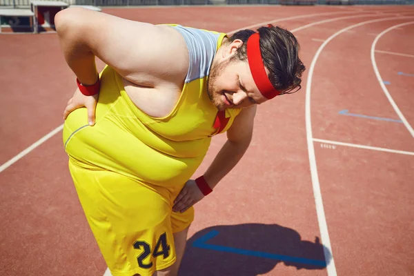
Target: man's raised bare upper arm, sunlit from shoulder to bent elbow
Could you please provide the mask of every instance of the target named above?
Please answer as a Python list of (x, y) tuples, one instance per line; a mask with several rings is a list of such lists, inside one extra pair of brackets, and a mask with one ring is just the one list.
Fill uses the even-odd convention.
[(131, 21), (83, 8), (63, 10), (55, 22), (59, 36), (72, 36), (79, 45), (84, 43), (128, 81), (175, 81), (177, 77), (184, 79), (188, 71), (186, 43), (171, 26)]

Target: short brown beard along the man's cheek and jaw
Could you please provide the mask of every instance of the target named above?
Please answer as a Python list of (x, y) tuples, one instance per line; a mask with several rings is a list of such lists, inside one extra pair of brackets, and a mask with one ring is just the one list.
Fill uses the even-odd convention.
[(210, 68), (210, 75), (208, 75), (207, 80), (207, 95), (210, 99), (211, 103), (218, 109), (218, 110), (224, 110), (226, 109), (226, 103), (224, 103), (221, 95), (221, 90), (217, 87), (217, 78), (219, 75), (221, 75), (221, 72), (224, 71), (224, 68), (228, 66), (228, 63), (230, 63), (230, 60), (226, 61), (215, 61), (211, 65)]

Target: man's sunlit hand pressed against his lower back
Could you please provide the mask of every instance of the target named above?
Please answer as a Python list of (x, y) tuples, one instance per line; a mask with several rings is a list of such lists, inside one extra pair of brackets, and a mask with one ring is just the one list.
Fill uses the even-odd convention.
[(72, 99), (68, 101), (65, 112), (63, 112), (63, 119), (66, 120), (69, 113), (77, 108), (86, 107), (88, 109), (88, 122), (90, 126), (95, 125), (95, 109), (97, 107), (99, 94), (93, 96), (85, 96), (81, 93), (79, 88), (75, 90)]

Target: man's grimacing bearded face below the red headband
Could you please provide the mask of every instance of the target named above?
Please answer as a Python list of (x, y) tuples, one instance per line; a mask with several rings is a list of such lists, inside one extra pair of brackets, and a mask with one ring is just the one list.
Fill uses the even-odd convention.
[[(231, 53), (232, 44), (224, 51)], [(237, 47), (233, 48), (233, 53), (234, 49)], [(207, 93), (218, 110), (247, 108), (267, 101), (257, 89), (247, 61), (232, 59), (226, 52), (224, 58), (219, 57), (213, 61), (207, 82)]]

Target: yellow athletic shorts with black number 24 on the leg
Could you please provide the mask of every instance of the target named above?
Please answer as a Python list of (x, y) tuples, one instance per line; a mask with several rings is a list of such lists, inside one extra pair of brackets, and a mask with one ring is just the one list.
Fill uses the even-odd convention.
[(194, 209), (171, 211), (154, 190), (117, 172), (88, 170), (69, 161), (79, 200), (114, 276), (149, 276), (174, 264), (172, 233), (184, 230)]

